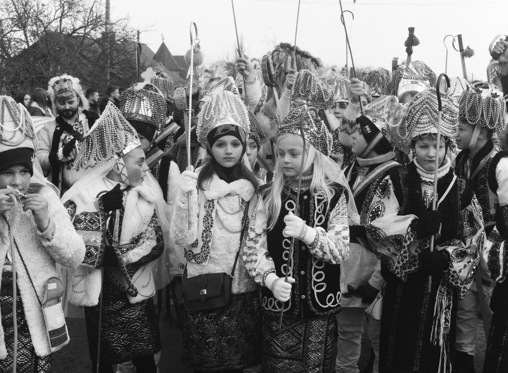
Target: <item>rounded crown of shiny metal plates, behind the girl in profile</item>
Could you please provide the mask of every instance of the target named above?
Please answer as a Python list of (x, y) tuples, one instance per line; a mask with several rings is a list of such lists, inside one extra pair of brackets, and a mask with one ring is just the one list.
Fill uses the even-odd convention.
[(120, 110), (127, 120), (139, 120), (161, 130), (166, 124), (167, 105), (161, 91), (150, 83), (138, 83), (120, 96)]

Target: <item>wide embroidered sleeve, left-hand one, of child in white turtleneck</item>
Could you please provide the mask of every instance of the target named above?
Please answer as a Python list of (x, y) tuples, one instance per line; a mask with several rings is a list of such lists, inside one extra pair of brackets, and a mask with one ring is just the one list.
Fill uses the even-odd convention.
[(367, 230), (368, 248), (390, 272), (405, 281), (409, 273), (418, 269), (421, 247), (411, 229), (416, 215), (400, 216), (399, 208), (392, 181), (387, 176), (375, 188), (366, 213), (362, 211), (361, 220)]

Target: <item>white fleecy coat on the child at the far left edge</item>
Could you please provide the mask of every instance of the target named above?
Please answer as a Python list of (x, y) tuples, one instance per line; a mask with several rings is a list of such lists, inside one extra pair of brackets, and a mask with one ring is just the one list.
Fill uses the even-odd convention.
[[(85, 256), (85, 244), (74, 230), (69, 214), (63, 208), (55, 192), (48, 187), (44, 187), (39, 194), (48, 199), (50, 217), (48, 229), (41, 232), (34, 222), (31, 211), (22, 211), (21, 204), (19, 204), (17, 222), (14, 227), (14, 240), (16, 240), (39, 298), (42, 300), (47, 280), (50, 277), (59, 277), (55, 262), (68, 267), (78, 266)], [(6, 218), (7, 221), (10, 221), (11, 212), (6, 213)], [(0, 218), (0, 230), (0, 258), (3, 265), (7, 250), (10, 250), (9, 228), (3, 218)], [(26, 323), (28, 324), (35, 352), (38, 356), (49, 355), (51, 350), (42, 309), (17, 253), (16, 273)], [(61, 345), (60, 348), (67, 343), (69, 341)], [(4, 329), (0, 325), (0, 359), (6, 357)]]

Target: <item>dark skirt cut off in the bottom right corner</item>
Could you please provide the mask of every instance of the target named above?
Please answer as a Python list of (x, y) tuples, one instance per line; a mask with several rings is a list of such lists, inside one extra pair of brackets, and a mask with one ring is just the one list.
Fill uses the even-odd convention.
[[(505, 280), (506, 281), (506, 280)], [(485, 351), (485, 373), (501, 373), (508, 370), (508, 313), (494, 312), (489, 340)]]

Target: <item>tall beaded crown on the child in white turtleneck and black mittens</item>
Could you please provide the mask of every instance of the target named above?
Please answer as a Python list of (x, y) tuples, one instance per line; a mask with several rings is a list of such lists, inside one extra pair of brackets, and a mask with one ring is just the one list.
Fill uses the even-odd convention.
[[(441, 134), (454, 140), (459, 129), (457, 117), (459, 108), (455, 101), (441, 94)], [(426, 133), (437, 133), (437, 95), (434, 88), (418, 93), (407, 106), (406, 139), (410, 143)]]

